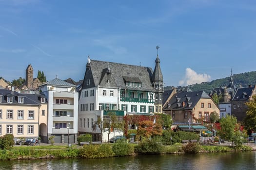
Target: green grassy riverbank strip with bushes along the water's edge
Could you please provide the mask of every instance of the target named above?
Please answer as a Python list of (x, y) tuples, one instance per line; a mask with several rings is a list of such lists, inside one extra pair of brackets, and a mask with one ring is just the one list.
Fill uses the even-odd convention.
[(173, 153), (209, 153), (252, 151), (249, 146), (202, 146), (198, 143), (187, 145), (161, 145), (155, 142), (139, 144), (114, 143), (101, 145), (68, 146), (19, 146), (10, 150), (0, 150), (0, 160), (41, 159), (41, 158), (103, 158), (113, 156), (128, 156), (135, 154), (173, 154)]

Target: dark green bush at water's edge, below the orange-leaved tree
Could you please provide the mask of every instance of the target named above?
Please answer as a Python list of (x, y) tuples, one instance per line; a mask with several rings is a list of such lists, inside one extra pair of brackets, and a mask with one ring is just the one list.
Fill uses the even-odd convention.
[(158, 154), (163, 151), (163, 147), (157, 140), (148, 140), (139, 143), (134, 151), (138, 154)]

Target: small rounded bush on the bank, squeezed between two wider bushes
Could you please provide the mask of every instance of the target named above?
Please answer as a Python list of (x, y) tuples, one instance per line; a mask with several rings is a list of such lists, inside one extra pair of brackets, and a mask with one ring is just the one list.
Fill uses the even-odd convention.
[(112, 146), (112, 150), (115, 156), (128, 156), (134, 153), (134, 149), (131, 144), (126, 142), (117, 142)]

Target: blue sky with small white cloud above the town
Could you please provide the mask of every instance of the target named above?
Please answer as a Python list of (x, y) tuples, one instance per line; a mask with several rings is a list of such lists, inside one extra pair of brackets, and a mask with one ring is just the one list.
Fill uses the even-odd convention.
[(255, 0), (0, 0), (0, 76), (83, 79), (93, 60), (160, 66), (167, 85), (256, 71)]

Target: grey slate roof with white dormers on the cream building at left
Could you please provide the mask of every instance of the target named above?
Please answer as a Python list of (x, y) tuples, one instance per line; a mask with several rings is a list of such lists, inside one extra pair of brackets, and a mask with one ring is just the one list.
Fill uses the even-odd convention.
[[(45, 97), (43, 94), (27, 94), (18, 93), (16, 91), (0, 89), (0, 96), (2, 97), (2, 102), (0, 104), (20, 104), (20, 105), (39, 105), (41, 103), (40, 97)], [(7, 96), (14, 97), (13, 103), (7, 103)], [(18, 97), (24, 97), (23, 103), (18, 103)]]

